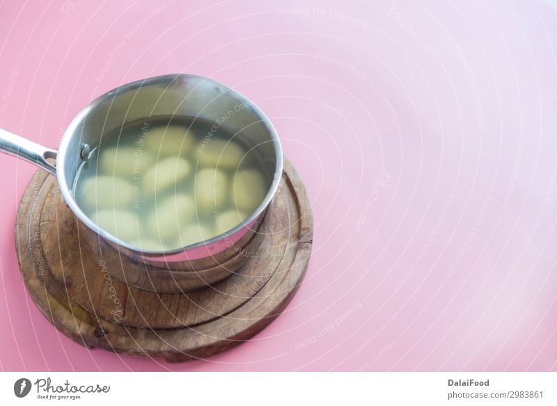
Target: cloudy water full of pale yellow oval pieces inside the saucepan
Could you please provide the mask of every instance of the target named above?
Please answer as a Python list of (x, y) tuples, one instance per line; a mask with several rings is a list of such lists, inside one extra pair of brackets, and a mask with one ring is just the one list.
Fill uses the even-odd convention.
[(147, 253), (178, 251), (242, 224), (270, 182), (252, 150), (213, 127), (159, 120), (107, 134), (79, 169), (79, 208), (103, 231)]

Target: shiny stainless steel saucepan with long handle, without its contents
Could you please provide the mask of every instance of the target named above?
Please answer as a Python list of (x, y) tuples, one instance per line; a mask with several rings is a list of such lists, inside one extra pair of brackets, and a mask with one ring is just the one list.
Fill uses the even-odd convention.
[[(228, 114), (226, 114), (228, 113)], [(262, 157), (262, 171), (272, 177), (272, 183), (265, 199), (249, 217), (240, 224), (217, 237), (204, 242), (191, 244), (173, 251), (146, 251), (133, 247), (117, 237), (99, 228), (76, 203), (74, 190), (77, 174), (81, 164), (88, 159), (91, 150), (113, 130), (127, 123), (160, 116), (184, 116), (217, 122), (226, 114), (226, 125), (233, 134), (240, 134), (242, 141), (249, 148), (254, 148)], [(164, 287), (140, 277), (138, 272), (149, 272), (143, 265), (143, 271), (114, 270), (114, 276), (125, 279), (127, 283), (140, 288), (162, 291), (191, 290), (214, 283), (228, 276), (234, 270), (219, 270), (219, 265), (226, 263), (226, 258), (237, 252), (237, 244), (243, 244), (256, 233), (256, 227), (267, 206), (271, 202), (283, 171), (283, 154), (281, 143), (269, 118), (247, 97), (212, 79), (196, 75), (164, 75), (134, 81), (105, 93), (88, 104), (72, 120), (65, 130), (60, 148), (52, 150), (0, 129), (0, 150), (36, 164), (41, 169), (56, 176), (63, 201), (74, 212), (79, 221), (91, 233), (89, 242), (107, 245), (118, 254), (129, 256), (135, 263), (157, 267), (153, 276), (166, 280)], [(56, 165), (47, 159), (55, 158)], [(100, 237), (100, 238), (99, 238)], [(100, 247), (102, 248), (102, 247)], [(196, 261), (199, 264), (196, 269)], [(171, 274), (164, 274), (164, 266)], [(193, 265), (192, 265), (193, 264)], [(130, 267), (133, 268), (133, 267)], [(186, 274), (187, 283), (180, 283), (172, 271), (185, 270), (198, 274), (205, 272), (201, 279)], [(130, 274), (127, 274), (130, 273)], [(162, 272), (162, 275), (161, 275)], [(183, 274), (184, 272), (180, 272)], [(203, 272), (201, 272), (203, 273)], [(143, 282), (137, 282), (139, 279)], [(173, 282), (168, 283), (168, 279)], [(196, 279), (199, 279), (196, 281)], [(148, 281), (148, 282), (145, 282)], [(193, 281), (193, 282), (192, 282)]]

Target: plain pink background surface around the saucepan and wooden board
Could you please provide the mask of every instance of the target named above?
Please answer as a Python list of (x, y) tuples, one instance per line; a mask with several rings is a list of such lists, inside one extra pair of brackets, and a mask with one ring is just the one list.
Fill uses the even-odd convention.
[(1, 2), (0, 127), (56, 146), (115, 86), (212, 77), (272, 119), (315, 215), (306, 279), (252, 341), (189, 364), (122, 357), (73, 343), (26, 294), (13, 228), (35, 168), (1, 156), (1, 369), (556, 370), (556, 13)]

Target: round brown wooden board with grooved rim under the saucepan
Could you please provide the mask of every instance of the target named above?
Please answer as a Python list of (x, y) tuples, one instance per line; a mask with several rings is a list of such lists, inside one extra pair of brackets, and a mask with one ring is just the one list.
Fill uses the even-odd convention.
[(102, 257), (80, 241), (77, 218), (63, 203), (56, 179), (37, 171), (19, 203), (15, 243), (33, 301), (63, 334), (88, 348), (188, 361), (253, 337), (299, 287), (313, 217), (289, 162), (258, 233), (262, 242), (244, 253), (246, 264), (213, 286), (182, 293), (134, 288), (107, 277)]

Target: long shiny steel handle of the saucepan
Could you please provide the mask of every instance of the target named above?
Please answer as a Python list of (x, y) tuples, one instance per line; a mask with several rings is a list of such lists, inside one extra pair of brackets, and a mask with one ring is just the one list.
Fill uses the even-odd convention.
[(36, 164), (51, 175), (56, 176), (56, 167), (47, 158), (56, 158), (56, 150), (51, 150), (22, 136), (0, 128), (0, 152), (25, 159)]

